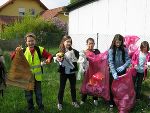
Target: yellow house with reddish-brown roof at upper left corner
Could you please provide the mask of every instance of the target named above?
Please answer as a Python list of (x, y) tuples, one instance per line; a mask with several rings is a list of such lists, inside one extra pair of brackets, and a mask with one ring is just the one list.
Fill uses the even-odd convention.
[(37, 15), (48, 10), (40, 0), (9, 0), (0, 6), (0, 31), (25, 14)]

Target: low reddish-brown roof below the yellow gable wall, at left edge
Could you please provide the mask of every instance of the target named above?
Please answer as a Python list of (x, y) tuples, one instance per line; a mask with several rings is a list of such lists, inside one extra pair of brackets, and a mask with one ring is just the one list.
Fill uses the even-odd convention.
[(22, 17), (19, 16), (2, 16), (0, 15), (0, 24), (10, 24), (16, 20), (21, 20)]

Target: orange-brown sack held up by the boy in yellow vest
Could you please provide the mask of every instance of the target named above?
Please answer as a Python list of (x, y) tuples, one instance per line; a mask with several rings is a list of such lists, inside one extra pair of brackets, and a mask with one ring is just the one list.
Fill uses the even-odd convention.
[(32, 75), (30, 65), (22, 49), (16, 51), (6, 78), (6, 84), (17, 86), (25, 90), (34, 89), (34, 76)]

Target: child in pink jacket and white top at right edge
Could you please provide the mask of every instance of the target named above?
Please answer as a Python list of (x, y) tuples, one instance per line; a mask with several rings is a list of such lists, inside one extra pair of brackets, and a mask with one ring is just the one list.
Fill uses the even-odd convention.
[(140, 99), (143, 78), (147, 76), (147, 62), (150, 62), (149, 44), (143, 41), (140, 45), (140, 51), (134, 53), (132, 57), (132, 66), (136, 69), (136, 76), (133, 76), (135, 85), (136, 99)]

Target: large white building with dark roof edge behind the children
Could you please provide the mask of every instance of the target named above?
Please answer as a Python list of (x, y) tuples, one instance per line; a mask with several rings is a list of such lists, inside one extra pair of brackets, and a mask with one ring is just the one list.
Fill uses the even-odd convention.
[(100, 51), (109, 49), (115, 34), (137, 35), (150, 42), (149, 0), (79, 0), (66, 8), (73, 47), (85, 49), (92, 37)]

